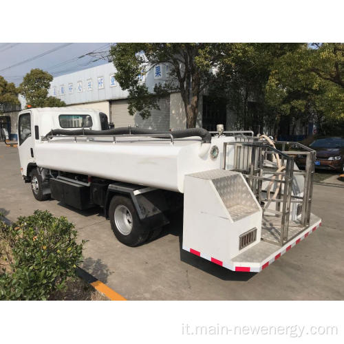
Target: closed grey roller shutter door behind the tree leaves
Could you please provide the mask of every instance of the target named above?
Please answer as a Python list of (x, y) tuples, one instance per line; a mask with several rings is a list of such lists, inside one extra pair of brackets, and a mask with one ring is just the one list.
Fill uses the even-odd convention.
[(151, 110), (151, 116), (143, 120), (140, 114), (129, 115), (127, 100), (111, 101), (111, 122), (114, 122), (115, 128), (132, 127), (138, 125), (139, 128), (151, 128), (158, 130), (170, 129), (170, 97), (159, 100), (160, 110)]

